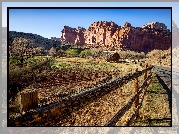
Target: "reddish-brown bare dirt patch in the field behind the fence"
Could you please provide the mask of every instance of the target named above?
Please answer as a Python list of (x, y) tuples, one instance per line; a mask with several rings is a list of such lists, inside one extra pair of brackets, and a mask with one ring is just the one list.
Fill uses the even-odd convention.
[(106, 83), (113, 73), (107, 72), (73, 72), (56, 71), (47, 74), (46, 80), (38, 83), (40, 103), (59, 101), (64, 97), (96, 87)]

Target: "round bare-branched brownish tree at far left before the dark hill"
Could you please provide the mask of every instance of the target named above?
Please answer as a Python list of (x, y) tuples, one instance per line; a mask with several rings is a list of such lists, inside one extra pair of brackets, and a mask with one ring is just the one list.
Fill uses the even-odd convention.
[(37, 54), (35, 43), (30, 39), (16, 37), (9, 46), (9, 54), (23, 64), (25, 60)]

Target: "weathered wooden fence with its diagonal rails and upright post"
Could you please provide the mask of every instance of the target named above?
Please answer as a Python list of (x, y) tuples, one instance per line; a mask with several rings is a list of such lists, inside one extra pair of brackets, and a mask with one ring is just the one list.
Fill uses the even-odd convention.
[[(131, 98), (131, 100), (121, 109), (119, 112), (108, 122), (106, 123), (105, 126), (115, 126), (116, 122), (125, 114), (125, 112), (132, 106), (133, 103), (135, 103), (136, 111), (135, 113), (131, 116), (130, 120), (126, 124), (129, 126), (136, 115), (138, 114), (139, 108), (142, 105), (142, 100), (139, 102), (139, 95), (143, 92), (143, 97), (145, 95), (147, 86), (149, 85), (151, 81), (151, 69), (153, 66), (147, 67), (142, 70), (138, 71), (136, 70), (135, 73), (133, 74), (128, 74), (122, 78), (118, 78), (114, 81), (108, 82), (104, 85), (101, 85), (99, 87), (92, 88), (88, 91), (84, 91), (82, 93), (79, 93), (75, 96), (72, 96), (68, 99), (63, 99), (60, 102), (49, 104), (47, 106), (43, 106), (41, 108), (37, 108), (35, 112), (31, 113), (26, 113), (25, 115), (11, 120), (10, 125), (11, 126), (16, 126), (15, 122), (19, 121), (21, 122), (20, 124), (23, 126), (26, 126), (27, 124), (25, 122), (28, 122), (29, 120), (33, 121), (34, 118), (45, 118), (49, 119), (51, 115), (53, 116), (58, 116), (59, 120), (63, 120), (66, 118), (68, 115), (70, 115), (73, 111), (78, 110), (80, 108), (83, 108), (84, 106), (88, 105), (90, 102), (95, 101), (99, 97), (102, 97), (105, 94), (108, 94), (111, 91), (116, 90), (118, 87), (123, 86), (124, 84), (127, 84), (129, 81), (134, 80), (134, 93), (135, 95)], [(147, 74), (149, 73), (149, 76), (147, 77)], [(144, 83), (142, 84), (141, 87), (138, 88), (138, 77), (144, 74)], [(150, 80), (150, 81), (149, 81)], [(148, 82), (149, 81), (149, 82)], [(35, 97), (36, 98), (36, 97)], [(34, 98), (34, 99), (35, 99)], [(31, 98), (31, 101), (33, 101), (33, 98)], [(36, 102), (36, 101), (33, 101)], [(49, 114), (50, 113), (50, 114)], [(28, 118), (27, 118), (28, 116)]]

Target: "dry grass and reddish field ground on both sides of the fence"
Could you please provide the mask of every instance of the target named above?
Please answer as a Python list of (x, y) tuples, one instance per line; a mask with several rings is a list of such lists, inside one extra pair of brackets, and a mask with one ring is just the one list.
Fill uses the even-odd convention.
[[(34, 83), (30, 81), (32, 76), (27, 72), (31, 71), (31, 68), (39, 65), (46, 57), (35, 57), (29, 59), (23, 67), (19, 67), (15, 64), (10, 64), (10, 78), (17, 77), (28, 80), (28, 87), (33, 88)], [(49, 104), (51, 102), (60, 101), (62, 98), (73, 96), (82, 91), (89, 90), (93, 87), (102, 85), (106, 82), (112, 81), (116, 78), (125, 76), (129, 73), (133, 73), (136, 68), (142, 70), (142, 67), (138, 64), (123, 64), (123, 63), (108, 63), (104, 60), (94, 60), (90, 58), (52, 58), (48, 64), (40, 71), (36, 72), (36, 87), (38, 89), (39, 106)], [(23, 77), (22, 77), (23, 76)], [(12, 79), (12, 81), (15, 79)], [(22, 80), (22, 82), (25, 82)], [(139, 77), (139, 85), (143, 82), (143, 76)], [(153, 80), (152, 87), (148, 88), (146, 98), (144, 101), (144, 107), (140, 110), (139, 123), (135, 122), (135, 126), (141, 125), (143, 118), (152, 118), (159, 114), (164, 117), (162, 112), (163, 105), (167, 105), (167, 101), (160, 95), (161, 87), (157, 84), (157, 81)], [(156, 95), (157, 94), (157, 95)], [(159, 94), (159, 95), (158, 95)], [(62, 122), (54, 121), (56, 126), (103, 126), (115, 113), (124, 106), (133, 95), (133, 81), (120, 87), (119, 89), (112, 91), (111, 93), (99, 98), (99, 100), (89, 104), (86, 108), (80, 109), (72, 113), (71, 117), (68, 117)], [(148, 100), (153, 98), (153, 101), (148, 103)], [(18, 94), (10, 100), (11, 113), (10, 116), (14, 116), (19, 113), (19, 101)], [(157, 101), (156, 101), (157, 100)], [(155, 103), (157, 104), (155, 105)], [(165, 103), (164, 103), (165, 102)], [(159, 107), (160, 104), (160, 107)], [(161, 105), (162, 104), (162, 105)], [(148, 110), (150, 106), (158, 108), (157, 111)], [(167, 107), (166, 107), (167, 108)], [(167, 109), (166, 109), (167, 110)], [(121, 122), (125, 122), (132, 109), (126, 113), (126, 118), (121, 119)], [(146, 116), (147, 115), (147, 116)], [(151, 116), (150, 116), (151, 115)], [(145, 124), (144, 125), (151, 125)], [(120, 122), (117, 125), (122, 125)], [(152, 124), (153, 125), (153, 124)]]

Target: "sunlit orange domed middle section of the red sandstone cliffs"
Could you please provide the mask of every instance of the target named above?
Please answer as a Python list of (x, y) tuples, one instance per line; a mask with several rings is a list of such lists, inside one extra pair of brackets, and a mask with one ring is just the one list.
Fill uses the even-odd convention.
[[(119, 26), (114, 22), (94, 22), (85, 31), (84, 38), (86, 46), (92, 47), (108, 47), (114, 45), (118, 40)], [(110, 46), (112, 47), (112, 46)]]

